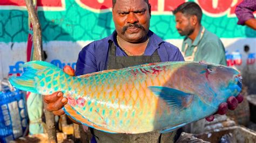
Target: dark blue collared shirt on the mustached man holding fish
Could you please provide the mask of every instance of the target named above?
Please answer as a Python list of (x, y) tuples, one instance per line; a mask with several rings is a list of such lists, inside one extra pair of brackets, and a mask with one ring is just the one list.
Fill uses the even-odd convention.
[[(116, 48), (116, 56), (127, 56), (118, 46), (116, 41), (116, 31), (109, 37), (102, 40), (93, 41), (80, 51), (76, 64), (76, 75), (89, 74), (105, 70), (108, 60), (109, 42), (113, 41)], [(149, 43), (145, 49), (144, 55), (152, 55), (157, 50), (161, 62), (165, 61), (184, 61), (179, 49), (163, 41), (160, 37), (149, 31)]]

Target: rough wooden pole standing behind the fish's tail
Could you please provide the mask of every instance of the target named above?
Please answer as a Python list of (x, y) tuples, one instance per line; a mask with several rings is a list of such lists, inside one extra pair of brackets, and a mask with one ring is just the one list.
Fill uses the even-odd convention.
[[(34, 46), (34, 53), (35, 57), (33, 59), (35, 60), (44, 60), (43, 57), (43, 44), (42, 44), (42, 31), (41, 31), (41, 25), (39, 23), (39, 18), (37, 15), (37, 11), (35, 9), (35, 5), (33, 5), (32, 0), (25, 0), (26, 2), (26, 8), (28, 9), (29, 18), (32, 23), (33, 27), (33, 46)], [(44, 107), (45, 107), (44, 103)], [(48, 133), (48, 142), (50, 143), (57, 143), (57, 134), (56, 134), (56, 128), (55, 128), (55, 120), (54, 115), (52, 112), (44, 110), (45, 118), (46, 118), (46, 126), (47, 126), (47, 133)]]

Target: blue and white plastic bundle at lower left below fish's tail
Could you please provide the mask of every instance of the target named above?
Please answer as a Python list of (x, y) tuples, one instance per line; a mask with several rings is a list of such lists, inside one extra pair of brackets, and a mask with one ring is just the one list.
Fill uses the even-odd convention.
[(22, 137), (27, 128), (28, 114), (23, 92), (3, 86), (0, 91), (0, 142)]

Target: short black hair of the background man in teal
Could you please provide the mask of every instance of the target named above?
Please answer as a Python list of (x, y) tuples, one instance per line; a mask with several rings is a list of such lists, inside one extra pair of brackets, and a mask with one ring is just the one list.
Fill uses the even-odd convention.
[(195, 2), (186, 2), (179, 5), (178, 8), (172, 11), (173, 15), (175, 15), (177, 12), (181, 12), (187, 16), (195, 15), (197, 16), (198, 23), (201, 23), (203, 12), (200, 6)]

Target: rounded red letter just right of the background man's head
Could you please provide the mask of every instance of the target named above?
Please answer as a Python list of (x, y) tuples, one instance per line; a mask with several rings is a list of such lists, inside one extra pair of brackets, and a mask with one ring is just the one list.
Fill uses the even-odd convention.
[(220, 13), (226, 12), (231, 7), (231, 4), (233, 2), (233, 0), (218, 0), (218, 1), (197, 0), (197, 1), (200, 7), (204, 11), (212, 14), (220, 14)]

